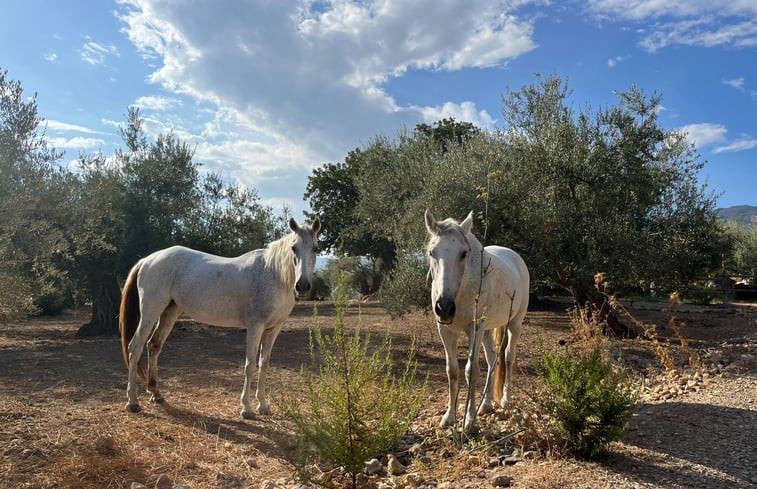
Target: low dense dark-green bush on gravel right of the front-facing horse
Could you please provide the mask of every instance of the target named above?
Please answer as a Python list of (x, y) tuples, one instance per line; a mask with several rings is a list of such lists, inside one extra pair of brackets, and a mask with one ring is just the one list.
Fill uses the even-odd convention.
[(585, 356), (542, 350), (536, 371), (547, 385), (555, 433), (577, 455), (598, 456), (628, 429), (634, 396), (602, 357), (601, 343)]

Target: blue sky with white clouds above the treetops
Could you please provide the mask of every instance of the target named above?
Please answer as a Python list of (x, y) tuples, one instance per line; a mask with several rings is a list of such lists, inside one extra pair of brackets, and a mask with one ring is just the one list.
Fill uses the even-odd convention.
[(0, 70), (66, 162), (123, 147), (136, 105), (295, 217), (312, 169), (377, 134), (503, 127), (502, 94), (535, 72), (577, 109), (633, 84), (662, 94), (721, 206), (757, 205), (757, 0), (0, 0)]

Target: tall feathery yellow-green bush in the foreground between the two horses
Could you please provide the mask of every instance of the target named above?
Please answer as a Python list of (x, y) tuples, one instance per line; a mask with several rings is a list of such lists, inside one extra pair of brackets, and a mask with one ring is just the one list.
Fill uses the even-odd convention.
[[(342, 284), (343, 285), (343, 284)], [(344, 291), (345, 287), (339, 290)], [(344, 467), (355, 475), (367, 460), (386, 453), (405, 433), (425, 395), (416, 382), (415, 345), (411, 345), (401, 373), (392, 365), (388, 337), (372, 351), (370, 335), (360, 322), (350, 332), (345, 325), (347, 297), (336, 301), (331, 334), (323, 331), (314, 313), (310, 330), (311, 370), (308, 395), (282, 401), (284, 416), (297, 438), (294, 463)]]

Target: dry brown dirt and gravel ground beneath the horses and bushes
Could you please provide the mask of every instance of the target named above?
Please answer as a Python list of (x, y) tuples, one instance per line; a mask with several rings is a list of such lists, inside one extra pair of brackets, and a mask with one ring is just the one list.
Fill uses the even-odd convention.
[[(319, 304), (324, 327), (334, 308)], [(664, 338), (667, 304), (628, 305), (658, 325)], [(678, 306), (689, 351), (701, 370), (668, 376), (648, 340), (617, 341), (632, 368), (640, 399), (631, 430), (599, 461), (578, 461), (532, 446), (539, 421), (524, 418), (537, 380), (540, 347), (570, 341), (566, 304), (532, 304), (518, 351), (515, 408), (483, 420), (491, 429), (526, 431), (493, 450), (458, 449), (436, 428), (446, 403), (444, 355), (433, 319), (421, 312), (391, 320), (380, 305), (360, 304), (363, 330), (389, 333), (397, 358), (410, 334), (418, 338), (419, 372), (428, 374), (427, 400), (405, 445), (422, 442), (424, 456), (403, 459), (408, 473), (374, 476), (365, 487), (489, 488), (746, 488), (757, 487), (757, 307)], [(300, 367), (309, 361), (313, 303), (298, 303), (273, 349), (270, 416), (239, 415), (244, 331), (180, 321), (160, 358), (166, 403), (124, 409), (126, 369), (117, 338), (77, 338), (84, 312), (0, 324), (0, 487), (130, 488), (132, 483), (201, 488), (292, 488), (293, 470), (271, 436), (280, 419), (277, 395), (302, 392)], [(350, 310), (348, 324), (357, 319)], [(461, 344), (467, 342), (461, 341)], [(685, 350), (670, 349), (681, 366)], [(461, 346), (459, 358), (465, 357)], [(643, 385), (642, 385), (643, 382)], [(480, 389), (479, 389), (480, 392)], [(519, 410), (520, 409), (520, 410)], [(516, 413), (516, 414), (513, 414)], [(516, 416), (513, 418), (513, 416)], [(517, 416), (520, 416), (518, 418)], [(522, 422), (521, 422), (522, 421)], [(504, 455), (511, 455), (507, 465)], [(165, 477), (164, 477), (165, 478)], [(169, 484), (168, 487), (171, 487)]]

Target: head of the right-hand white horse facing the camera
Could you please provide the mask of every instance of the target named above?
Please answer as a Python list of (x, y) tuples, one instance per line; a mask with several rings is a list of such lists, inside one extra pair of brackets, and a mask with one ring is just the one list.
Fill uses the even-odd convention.
[(431, 306), (439, 323), (450, 324), (455, 319), (455, 300), (470, 255), (466, 236), (473, 227), (473, 213), (458, 223), (454, 219), (436, 221), (426, 210), (425, 219), (429, 235), (426, 251), (432, 278)]

